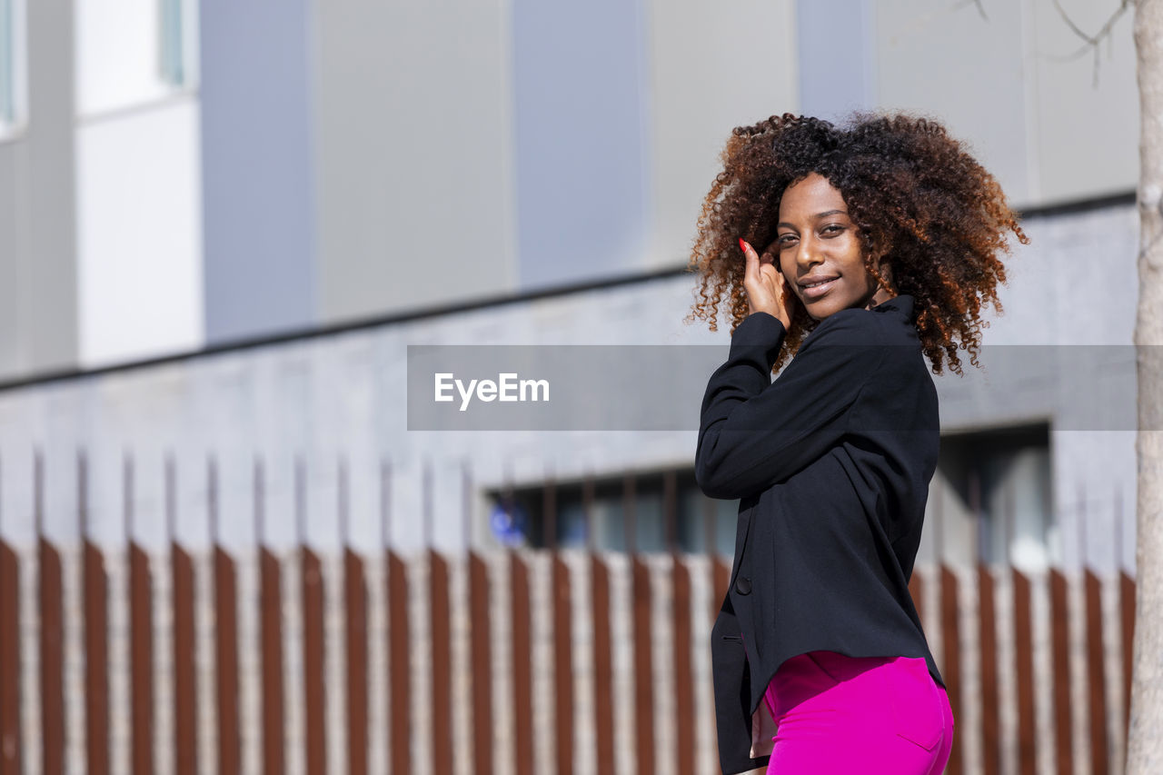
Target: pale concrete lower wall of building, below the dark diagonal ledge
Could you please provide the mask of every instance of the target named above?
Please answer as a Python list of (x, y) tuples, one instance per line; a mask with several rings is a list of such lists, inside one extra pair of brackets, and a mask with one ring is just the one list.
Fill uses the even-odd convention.
[[(1127, 401), (1133, 406), (1134, 400), (1134, 360), (1128, 347), (1133, 320), (1085, 311), (1078, 294), (1070, 294), (1072, 285), (1055, 291), (1055, 298), (1066, 299), (1058, 305), (1041, 294), (1048, 282), (1070, 284), (1078, 271), (1092, 269), (1093, 249), (1079, 234), (1118, 235), (1107, 243), (1105, 255), (1111, 259), (1104, 271), (1133, 278), (1127, 268), (1135, 256), (1134, 208), (1108, 207), (1028, 226), (1035, 242), (1015, 250), (1009, 261), (1013, 276), (1005, 296), (1006, 314), (993, 319), (986, 330), (984, 355), (994, 358), (1018, 350), (1021, 357), (1025, 347), (1039, 357), (1027, 358), (1028, 368), (1022, 360), (1015, 368), (1011, 357), (1008, 369), (978, 371), (966, 364), (965, 377), (937, 378), (942, 428), (959, 432), (1049, 421), (1053, 510), (1063, 516), (1058, 556), (1071, 568), (1082, 562), (1107, 567), (1116, 560), (1132, 567), (1134, 529), (1127, 516), (1133, 513), (1135, 498), (1134, 425), (1133, 414), (1128, 426), (1126, 411), (1120, 413), (1119, 406)], [(1091, 276), (1086, 282), (1092, 282)], [(334, 547), (340, 540), (337, 525), (311, 514), (327, 513), (335, 503), (341, 455), (350, 469), (357, 546), (378, 546), (383, 540), (383, 460), (391, 463), (390, 510), (397, 516), (393, 540), (399, 546), (415, 548), (429, 540), (442, 548), (487, 545), (484, 488), (499, 488), (506, 481), (537, 483), (550, 472), (571, 478), (693, 463), (694, 407), (706, 376), (726, 355), (728, 335), (684, 326), (692, 287), (693, 277), (677, 275), (6, 391), (0, 393), (0, 513), (19, 517), (2, 520), (0, 531), (21, 542), (33, 539), (28, 516), (34, 446), (47, 450), (50, 534), (62, 540), (76, 535), (74, 450), (84, 447), (92, 460), (92, 529), (112, 543), (123, 536), (122, 454), (131, 450), (138, 461), (138, 512), (157, 514), (163, 456), (172, 449), (179, 471), (177, 529), (194, 546), (208, 536), (206, 467), (212, 452), (219, 461), (223, 540), (230, 546), (255, 540), (251, 477), (256, 455), (265, 460), (270, 513), (281, 514), (292, 513), (293, 458), (306, 458), (305, 538), (313, 545)], [(1112, 305), (1133, 308), (1133, 283), (1111, 285), (1107, 293)], [(420, 343), (713, 347), (699, 354), (700, 362), (706, 355), (705, 374), (650, 398), (671, 401), (670, 410), (682, 417), (690, 413), (690, 425), (678, 429), (422, 432), (409, 431), (406, 392), (407, 348)], [(1078, 347), (1086, 344), (1093, 350)], [(1126, 400), (1077, 400), (1069, 379), (1094, 370), (1078, 362), (1087, 353), (1118, 362), (1121, 371), (1108, 375), (1113, 381), (1108, 388), (1122, 391)], [(1127, 361), (1126, 355), (1132, 358)], [(676, 364), (675, 374), (684, 370), (690, 370), (688, 363)], [(1110, 412), (1096, 413), (1094, 407)], [(471, 535), (464, 532), (465, 464), (475, 490)], [(434, 476), (433, 521), (428, 524), (415, 518), (426, 513), (421, 486), (426, 465), (431, 465)], [(1114, 527), (1116, 489), (1125, 504), (1121, 533)], [(1085, 540), (1073, 511), (1080, 492), (1094, 500), (1087, 510)], [(968, 517), (959, 528), (954, 521), (950, 525), (947, 546), (971, 546), (969, 534), (961, 540), (956, 532), (971, 529)], [(286, 545), (295, 540), (295, 531), (287, 517), (271, 527), (271, 540)], [(143, 520), (137, 532), (143, 541), (157, 542), (164, 540), (165, 528), (155, 517)]]

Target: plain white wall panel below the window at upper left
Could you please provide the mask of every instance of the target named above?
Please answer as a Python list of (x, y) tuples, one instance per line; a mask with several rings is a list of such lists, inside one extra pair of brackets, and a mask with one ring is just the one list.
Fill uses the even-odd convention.
[(81, 368), (205, 342), (198, 114), (183, 99), (77, 130)]

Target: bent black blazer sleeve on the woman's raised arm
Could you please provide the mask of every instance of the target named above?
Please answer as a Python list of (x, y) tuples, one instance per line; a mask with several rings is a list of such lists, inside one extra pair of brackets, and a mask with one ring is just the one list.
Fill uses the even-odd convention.
[(694, 475), (704, 493), (732, 499), (759, 492), (840, 441), (884, 356), (866, 315), (843, 310), (826, 318), (775, 382), (784, 325), (766, 312), (739, 325), (702, 398)]

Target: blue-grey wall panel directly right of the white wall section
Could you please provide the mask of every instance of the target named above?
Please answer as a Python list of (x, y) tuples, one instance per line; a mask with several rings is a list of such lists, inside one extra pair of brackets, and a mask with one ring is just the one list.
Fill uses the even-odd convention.
[(314, 322), (307, 0), (201, 2), (206, 337)]

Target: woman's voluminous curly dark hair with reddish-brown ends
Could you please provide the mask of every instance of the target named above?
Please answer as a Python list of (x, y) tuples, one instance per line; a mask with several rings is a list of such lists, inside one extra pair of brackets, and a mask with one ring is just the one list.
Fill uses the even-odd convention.
[[(722, 151), (723, 170), (702, 204), (688, 269), (700, 272), (694, 318), (716, 330), (727, 297), (732, 332), (747, 318), (743, 237), (762, 250), (776, 236), (779, 201), (789, 185), (815, 172), (844, 198), (859, 228), (864, 262), (877, 284), (914, 298), (921, 348), (934, 374), (946, 365), (962, 374), (957, 350), (977, 361), (982, 307), (999, 313), (998, 283), (1006, 283), (998, 256), (1008, 254), (1008, 232), (1022, 244), (1001, 186), (940, 123), (908, 114), (855, 113), (837, 127), (790, 113), (733, 130)], [(891, 269), (891, 283), (876, 259)], [(815, 328), (795, 305), (779, 370)]]

